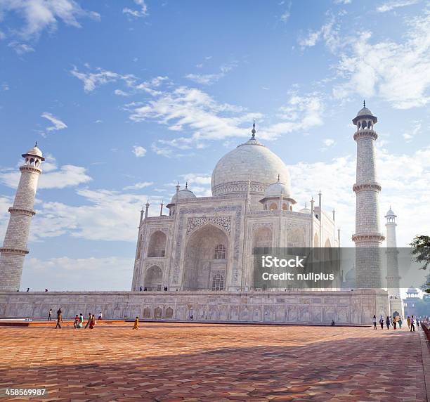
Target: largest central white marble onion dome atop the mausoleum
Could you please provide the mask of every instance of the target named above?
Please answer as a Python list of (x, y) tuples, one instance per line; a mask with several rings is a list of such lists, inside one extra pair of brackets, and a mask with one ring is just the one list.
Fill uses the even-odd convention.
[(211, 179), (212, 195), (247, 193), (248, 181), (251, 193), (263, 194), (278, 175), (289, 194), (289, 172), (284, 162), (253, 135), (216, 164)]

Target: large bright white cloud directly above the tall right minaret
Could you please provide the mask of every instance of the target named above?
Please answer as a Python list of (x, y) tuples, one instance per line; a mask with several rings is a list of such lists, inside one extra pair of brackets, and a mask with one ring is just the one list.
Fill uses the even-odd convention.
[(430, 9), (408, 18), (403, 41), (374, 41), (361, 32), (341, 55), (335, 98), (351, 93), (377, 96), (398, 109), (417, 108), (430, 101)]

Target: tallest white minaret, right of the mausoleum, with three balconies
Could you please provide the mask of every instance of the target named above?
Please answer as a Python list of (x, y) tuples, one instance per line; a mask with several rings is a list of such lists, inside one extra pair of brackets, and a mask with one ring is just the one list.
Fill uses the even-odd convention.
[(377, 121), (377, 117), (372, 115), (365, 103), (353, 119), (353, 124), (357, 127), (354, 134), (357, 143), (357, 181), (353, 186), (356, 193), (356, 233), (352, 240), (357, 247), (357, 288), (382, 287), (378, 247), (382, 245), (384, 235), (379, 231), (378, 195), (381, 186), (377, 182), (374, 153), (374, 141), (378, 135), (373, 129)]

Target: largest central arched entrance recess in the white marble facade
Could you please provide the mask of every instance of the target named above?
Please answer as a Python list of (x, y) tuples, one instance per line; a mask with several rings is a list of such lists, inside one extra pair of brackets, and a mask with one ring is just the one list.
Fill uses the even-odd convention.
[(185, 249), (183, 290), (223, 290), (227, 261), (226, 233), (210, 224), (198, 229)]

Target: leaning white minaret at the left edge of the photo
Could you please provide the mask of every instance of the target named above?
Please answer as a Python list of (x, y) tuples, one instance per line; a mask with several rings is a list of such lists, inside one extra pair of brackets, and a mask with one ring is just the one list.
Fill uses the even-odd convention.
[(22, 157), (25, 162), (20, 166), (20, 183), (16, 190), (13, 207), (9, 208), (11, 218), (3, 247), (0, 247), (0, 290), (16, 291), (20, 288), (24, 257), (29, 253), (27, 239), (30, 233), (30, 223), (36, 214), (33, 206), (37, 181), (41, 174), (41, 162), (45, 160), (41, 150), (37, 148), (37, 143), (27, 153), (22, 154)]

